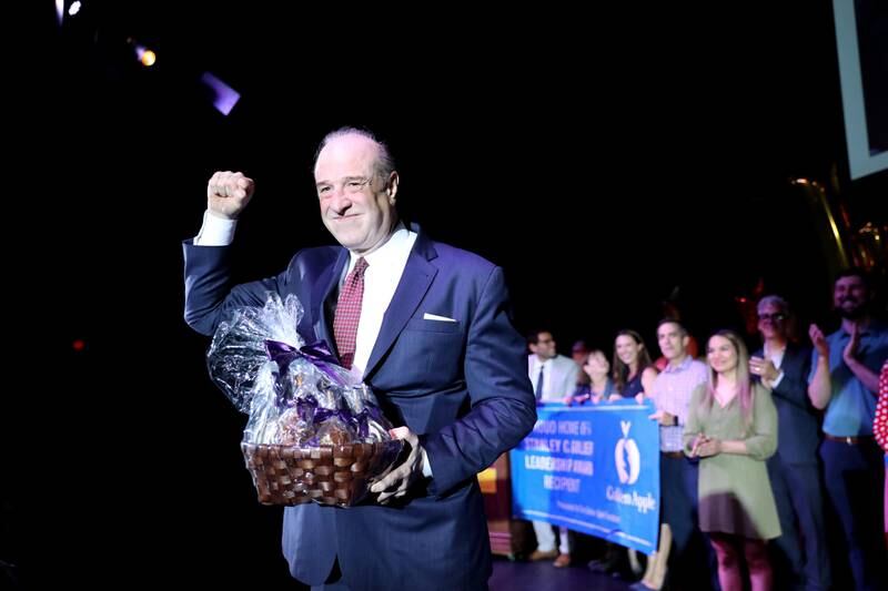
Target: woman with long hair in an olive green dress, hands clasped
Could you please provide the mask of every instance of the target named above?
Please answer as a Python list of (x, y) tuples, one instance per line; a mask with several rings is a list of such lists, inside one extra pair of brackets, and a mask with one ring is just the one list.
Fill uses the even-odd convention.
[(740, 591), (746, 560), (751, 591), (769, 591), (774, 574), (766, 540), (780, 536), (766, 460), (777, 450), (777, 408), (753, 383), (740, 337), (719, 330), (706, 348), (707, 383), (694, 390), (685, 454), (700, 459), (699, 527), (718, 559), (722, 591)]

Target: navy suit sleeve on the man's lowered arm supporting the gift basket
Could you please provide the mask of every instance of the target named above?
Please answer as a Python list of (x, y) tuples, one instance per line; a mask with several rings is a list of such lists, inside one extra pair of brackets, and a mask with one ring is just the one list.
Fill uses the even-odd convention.
[(421, 436), (432, 465), (430, 491), (447, 495), (515, 447), (536, 422), (524, 339), (512, 325), (503, 272), (494, 267), (468, 328), (464, 361), (471, 410)]

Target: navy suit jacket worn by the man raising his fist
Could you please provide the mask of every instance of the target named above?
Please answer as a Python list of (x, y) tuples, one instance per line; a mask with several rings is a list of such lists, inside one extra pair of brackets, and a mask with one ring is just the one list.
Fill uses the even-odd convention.
[[(295, 294), (305, 308), (301, 336), (335, 346), (332, 315), (345, 248), (301, 251), (280, 275), (231, 288), (229, 246), (189, 241), (183, 247), (185, 319), (194, 329), (211, 335), (232, 307), (262, 306), (268, 292)], [(424, 319), (425, 313), (456, 322)], [(525, 344), (511, 322), (502, 269), (420, 232), (364, 381), (392, 422), (420, 436), (433, 478), (390, 506), (287, 508), (283, 551), (293, 577), (322, 584), (339, 557), (352, 590), (486, 589), (490, 541), (475, 475), (536, 421)]]

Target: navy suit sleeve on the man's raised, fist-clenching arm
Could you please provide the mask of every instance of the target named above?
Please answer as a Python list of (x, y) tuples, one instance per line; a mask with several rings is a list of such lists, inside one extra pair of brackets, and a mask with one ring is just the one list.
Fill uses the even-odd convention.
[(232, 287), (231, 246), (194, 246), (191, 241), (185, 241), (182, 249), (185, 257), (185, 322), (203, 335), (212, 335), (232, 308), (264, 306), (269, 292), (283, 293), (285, 287), (287, 272)]

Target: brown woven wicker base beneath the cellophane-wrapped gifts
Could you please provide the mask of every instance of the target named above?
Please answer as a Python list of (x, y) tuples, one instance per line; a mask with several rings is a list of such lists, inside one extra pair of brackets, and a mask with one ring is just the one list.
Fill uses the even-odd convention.
[(320, 447), (242, 442), (241, 450), (262, 505), (349, 507), (364, 498), (403, 445), (400, 439)]

